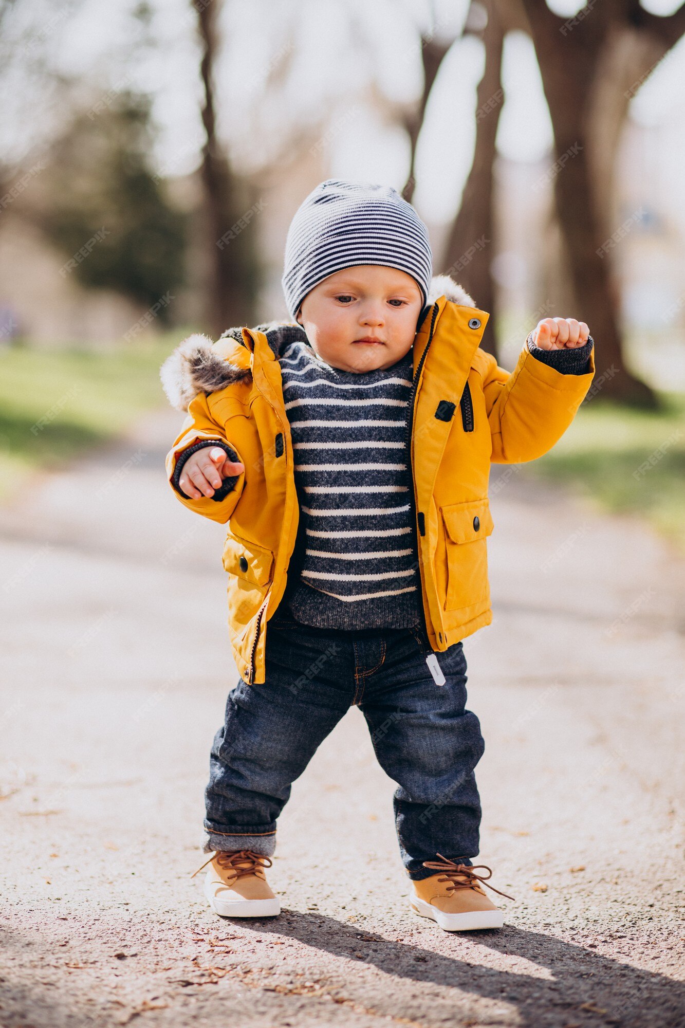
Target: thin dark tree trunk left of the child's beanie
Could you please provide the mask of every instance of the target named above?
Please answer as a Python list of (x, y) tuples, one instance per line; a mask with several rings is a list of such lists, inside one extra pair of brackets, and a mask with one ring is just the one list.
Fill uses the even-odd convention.
[(207, 247), (211, 276), (207, 322), (215, 336), (232, 325), (254, 321), (257, 246), (256, 222), (264, 206), (250, 184), (235, 175), (216, 135), (214, 64), (218, 48), (218, 2), (192, 0), (202, 42), (204, 86), (202, 182), (205, 192)]

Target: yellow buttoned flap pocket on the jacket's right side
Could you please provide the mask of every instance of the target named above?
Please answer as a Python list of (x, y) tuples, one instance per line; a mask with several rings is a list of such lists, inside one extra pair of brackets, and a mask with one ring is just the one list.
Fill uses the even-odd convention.
[(494, 524), (490, 503), (469, 500), (441, 508), (447, 553), (445, 611), (490, 599), (488, 544)]

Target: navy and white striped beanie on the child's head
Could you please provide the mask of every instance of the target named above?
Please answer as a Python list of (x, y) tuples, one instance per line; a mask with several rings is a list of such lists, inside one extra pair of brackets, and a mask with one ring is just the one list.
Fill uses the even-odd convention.
[(355, 264), (385, 264), (416, 279), (428, 298), (432, 274), (428, 229), (392, 186), (326, 179), (290, 222), (283, 292), (293, 319), (307, 294)]

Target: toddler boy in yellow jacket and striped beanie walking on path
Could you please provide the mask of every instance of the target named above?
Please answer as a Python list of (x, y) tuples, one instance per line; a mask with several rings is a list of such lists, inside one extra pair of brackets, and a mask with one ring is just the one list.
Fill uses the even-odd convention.
[(553, 446), (591, 382), (592, 340), (548, 318), (513, 372), (498, 367), (478, 345), (488, 314), (432, 278), (426, 226), (378, 185), (310, 193), (283, 288), (292, 322), (191, 336), (163, 367), (187, 410), (170, 482), (228, 525), (241, 678), (211, 750), (207, 900), (223, 916), (280, 913), (264, 873), (277, 818), (357, 704), (397, 782), (412, 909), (446, 930), (500, 927), (490, 869), (472, 865), (483, 740), (462, 640), (492, 621), (490, 465)]

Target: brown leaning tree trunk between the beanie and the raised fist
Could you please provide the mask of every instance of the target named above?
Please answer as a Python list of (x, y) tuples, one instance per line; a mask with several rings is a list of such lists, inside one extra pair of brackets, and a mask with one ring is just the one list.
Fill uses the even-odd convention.
[(483, 6), (488, 11), (488, 25), (480, 38), (485, 48), (485, 66), (476, 93), (475, 149), (462, 204), (447, 237), (442, 266), (446, 274), (458, 278), (481, 309), (490, 313), (481, 346), (496, 354), (497, 301), (490, 265), (494, 254), (495, 139), (504, 100), (501, 74), (504, 32), (492, 0), (485, 0)]

